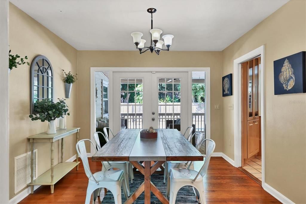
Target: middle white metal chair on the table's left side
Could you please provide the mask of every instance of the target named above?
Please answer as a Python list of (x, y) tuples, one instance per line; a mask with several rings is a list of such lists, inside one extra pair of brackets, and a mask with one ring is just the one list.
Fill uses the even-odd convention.
[[(98, 133), (102, 134), (103, 137), (106, 138), (106, 136), (102, 132), (95, 132), (94, 133), (94, 140), (95, 140), (95, 143), (96, 143), (97, 150), (101, 149)], [(130, 196), (129, 177), (131, 179), (131, 183), (133, 183), (133, 179), (134, 179), (132, 164), (128, 161), (107, 161), (107, 162), (102, 161), (102, 170), (107, 171), (111, 168), (119, 168), (119, 169), (124, 171), (126, 189), (128, 191), (128, 196)]]

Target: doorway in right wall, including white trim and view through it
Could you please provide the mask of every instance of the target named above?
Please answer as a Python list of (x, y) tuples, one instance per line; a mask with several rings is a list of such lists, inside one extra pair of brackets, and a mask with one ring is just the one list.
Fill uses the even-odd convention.
[[(243, 63), (245, 63), (245, 65), (243, 65)], [(247, 67), (247, 70), (245, 72), (243, 72), (242, 70), (243, 66)], [(235, 59), (233, 61), (233, 67), (234, 67), (233, 92), (235, 93), (233, 95), (234, 166), (244, 171), (245, 168), (242, 167), (244, 166), (245, 162), (254, 162), (255, 164), (254, 163), (250, 164), (255, 166), (255, 168), (253, 168), (252, 165), (248, 165), (250, 167), (247, 166), (246, 168), (254, 169), (249, 171), (255, 172), (256, 170), (255, 173), (259, 174), (260, 172), (258, 171), (258, 169), (260, 169), (259, 167), (260, 165), (256, 164), (261, 164), (261, 170), (260, 170), (261, 179), (256, 178), (256, 176), (259, 175), (256, 175), (254, 177), (257, 179), (258, 183), (259, 184), (261, 183), (262, 187), (265, 188), (266, 184), (265, 184), (265, 126), (264, 126), (265, 124), (264, 45)], [(252, 69), (250, 69), (251, 71), (248, 70), (248, 68), (250, 67), (252, 67)], [(244, 85), (243, 85), (243, 74), (245, 75)], [(255, 82), (255, 80), (257, 81)], [(257, 84), (256, 86), (254, 86), (255, 84), (254, 82)], [(256, 96), (254, 96), (254, 94)], [(243, 95), (246, 95), (246, 97), (243, 98)], [(244, 102), (243, 99), (245, 100)], [(254, 103), (254, 101), (256, 101), (256, 103)], [(250, 132), (249, 135), (248, 131)], [(247, 137), (249, 136), (249, 138), (245, 138), (245, 135)], [(259, 140), (259, 138), (261, 138), (261, 140)], [(248, 149), (248, 144), (250, 145), (249, 149)], [(249, 158), (244, 158), (245, 157), (244, 155), (247, 155), (246, 157)], [(252, 161), (252, 159), (254, 161)], [(249, 171), (245, 170), (245, 172), (250, 173)], [(252, 178), (252, 176), (250, 177)]]

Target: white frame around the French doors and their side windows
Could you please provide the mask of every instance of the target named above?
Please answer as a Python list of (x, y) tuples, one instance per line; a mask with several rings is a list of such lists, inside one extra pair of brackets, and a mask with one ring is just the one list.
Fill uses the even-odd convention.
[[(206, 138), (210, 139), (210, 67), (91, 67), (90, 68), (90, 139), (94, 141), (95, 133), (95, 72), (109, 71), (109, 124), (113, 129), (113, 72), (188, 72), (188, 90), (192, 89), (192, 71), (204, 71), (205, 73), (205, 123)], [(188, 91), (188, 98), (192, 98), (191, 91)], [(192, 101), (188, 100), (188, 124), (192, 124)], [(111, 137), (111, 135), (110, 135)], [(90, 148), (91, 155), (95, 153), (94, 147)]]

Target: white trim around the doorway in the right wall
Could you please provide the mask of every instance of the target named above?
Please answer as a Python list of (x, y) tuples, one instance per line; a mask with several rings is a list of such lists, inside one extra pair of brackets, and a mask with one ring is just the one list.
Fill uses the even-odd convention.
[(241, 63), (257, 56), (261, 57), (259, 69), (260, 114), (261, 114), (261, 158), (262, 185), (265, 183), (265, 106), (264, 106), (264, 45), (234, 60), (234, 161), (241, 167)]

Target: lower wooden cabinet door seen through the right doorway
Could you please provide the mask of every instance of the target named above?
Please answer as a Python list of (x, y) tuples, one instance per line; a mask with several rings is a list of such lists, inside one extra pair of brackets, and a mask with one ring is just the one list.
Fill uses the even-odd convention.
[(248, 158), (259, 152), (259, 119), (248, 121)]

